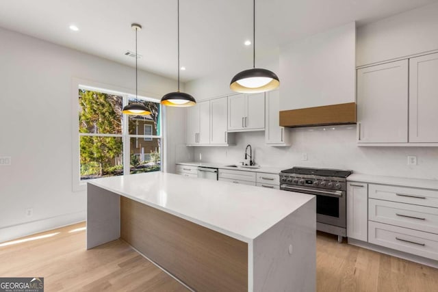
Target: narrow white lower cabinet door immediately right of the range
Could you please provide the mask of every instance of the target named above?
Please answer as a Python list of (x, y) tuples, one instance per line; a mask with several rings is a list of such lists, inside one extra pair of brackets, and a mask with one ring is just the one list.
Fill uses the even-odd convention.
[(347, 237), (368, 241), (368, 185), (347, 183)]

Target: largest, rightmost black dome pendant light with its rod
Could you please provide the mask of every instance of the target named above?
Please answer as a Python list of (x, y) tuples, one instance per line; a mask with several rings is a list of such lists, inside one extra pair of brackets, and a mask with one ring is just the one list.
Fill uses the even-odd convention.
[(230, 88), (235, 92), (268, 92), (280, 85), (279, 77), (270, 70), (255, 68), (255, 0), (253, 0), (253, 68), (237, 73)]

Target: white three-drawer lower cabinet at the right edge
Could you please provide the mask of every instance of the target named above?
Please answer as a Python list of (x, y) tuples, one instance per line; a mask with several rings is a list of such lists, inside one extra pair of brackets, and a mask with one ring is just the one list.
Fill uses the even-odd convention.
[(368, 242), (438, 260), (438, 191), (368, 185)]

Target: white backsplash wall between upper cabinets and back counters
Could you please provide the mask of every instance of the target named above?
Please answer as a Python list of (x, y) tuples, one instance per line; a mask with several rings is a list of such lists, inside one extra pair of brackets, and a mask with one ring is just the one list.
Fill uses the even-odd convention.
[[(245, 147), (251, 144), (255, 162), (260, 165), (292, 168), (339, 168), (357, 173), (438, 179), (438, 148), (358, 147), (356, 126), (310, 127), (291, 131), (292, 146), (272, 147), (264, 144), (264, 132), (235, 133), (236, 146), (194, 147), (199, 161), (238, 163), (243, 161)], [(326, 129), (324, 131), (323, 129)], [(302, 161), (302, 153), (308, 160)], [(417, 165), (407, 165), (407, 155), (417, 156)]]

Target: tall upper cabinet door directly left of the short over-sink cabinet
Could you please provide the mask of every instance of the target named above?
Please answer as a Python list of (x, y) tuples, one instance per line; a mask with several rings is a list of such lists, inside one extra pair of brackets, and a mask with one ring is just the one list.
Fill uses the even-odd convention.
[(210, 143), (227, 144), (227, 97), (210, 101)]

